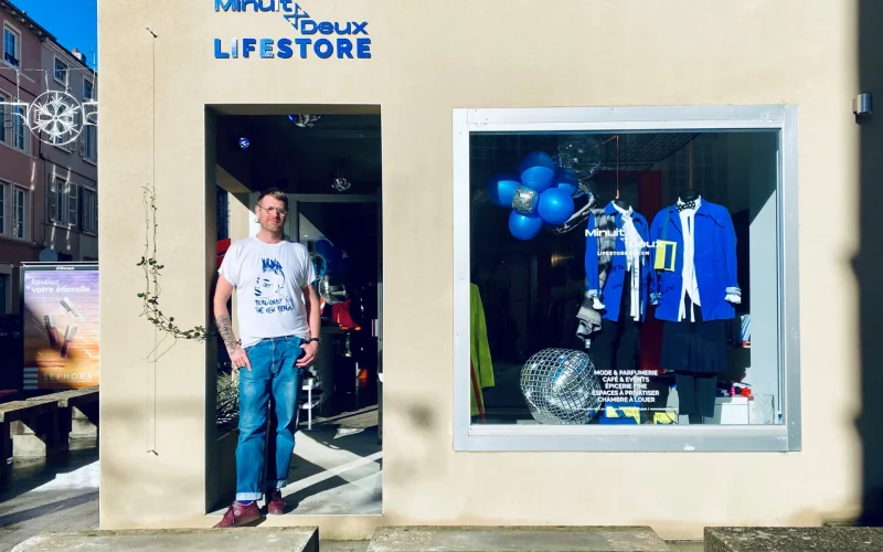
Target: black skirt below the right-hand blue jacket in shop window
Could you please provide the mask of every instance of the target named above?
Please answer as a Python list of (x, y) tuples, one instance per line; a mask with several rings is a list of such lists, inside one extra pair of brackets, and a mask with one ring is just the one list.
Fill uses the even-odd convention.
[[(684, 294), (687, 318), (662, 325), (659, 365), (675, 372), (717, 374), (726, 370), (726, 320), (702, 320), (702, 309)], [(690, 321), (690, 308), (695, 322)]]

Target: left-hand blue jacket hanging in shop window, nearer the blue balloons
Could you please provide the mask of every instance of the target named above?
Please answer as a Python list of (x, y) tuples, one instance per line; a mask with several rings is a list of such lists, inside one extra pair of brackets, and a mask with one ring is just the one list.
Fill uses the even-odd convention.
[[(616, 231), (623, 230), (623, 213), (615, 206), (613, 201), (604, 209), (604, 214), (611, 216), (616, 215)], [(641, 240), (649, 242), (650, 225), (647, 219), (637, 211), (631, 212), (631, 222), (635, 224), (635, 230), (641, 236)], [(588, 217), (588, 225), (586, 226), (591, 232), (596, 229), (595, 215)], [(600, 278), (598, 274), (598, 265), (602, 262), (598, 255), (598, 241), (603, 240), (597, 235), (586, 234), (586, 291), (593, 297), (600, 297), (602, 302), (606, 307), (603, 310), (602, 318), (607, 320), (619, 320), (619, 306), (623, 304), (623, 286), (626, 282), (627, 256), (626, 256), (626, 240), (624, 235), (617, 235), (615, 254), (609, 255), (608, 259), (611, 262), (610, 272), (607, 275), (607, 280), (604, 283), (604, 289), (600, 289)], [(613, 238), (611, 238), (613, 240)], [(650, 273), (652, 265), (650, 264), (650, 255), (643, 247), (643, 254), (640, 256), (640, 312), (641, 321), (647, 317), (647, 299), (649, 297), (650, 287)], [(602, 252), (608, 253), (609, 252)], [(611, 257), (611, 258), (609, 258)]]

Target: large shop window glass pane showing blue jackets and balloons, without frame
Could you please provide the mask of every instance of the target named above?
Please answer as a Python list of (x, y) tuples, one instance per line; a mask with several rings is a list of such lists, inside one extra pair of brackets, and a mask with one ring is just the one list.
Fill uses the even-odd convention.
[(781, 421), (778, 131), (470, 136), (474, 424)]

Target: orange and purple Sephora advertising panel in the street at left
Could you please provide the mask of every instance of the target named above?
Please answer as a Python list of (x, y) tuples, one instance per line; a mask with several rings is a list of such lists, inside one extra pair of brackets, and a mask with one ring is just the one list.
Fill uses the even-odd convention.
[(24, 390), (98, 385), (98, 266), (21, 268)]

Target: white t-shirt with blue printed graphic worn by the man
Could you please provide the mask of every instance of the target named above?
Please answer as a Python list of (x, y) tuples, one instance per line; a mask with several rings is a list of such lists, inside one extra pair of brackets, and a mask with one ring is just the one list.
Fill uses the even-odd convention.
[(265, 338), (310, 338), (301, 288), (316, 279), (307, 247), (283, 241), (267, 244), (257, 237), (230, 246), (217, 270), (236, 288), (242, 347)]

